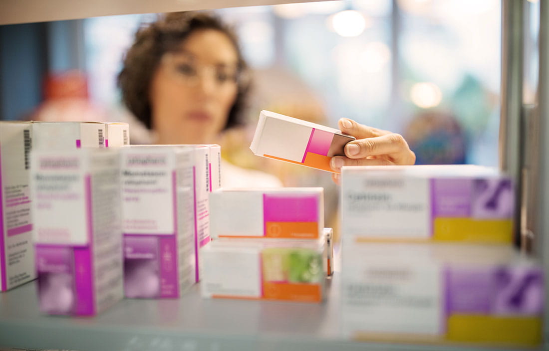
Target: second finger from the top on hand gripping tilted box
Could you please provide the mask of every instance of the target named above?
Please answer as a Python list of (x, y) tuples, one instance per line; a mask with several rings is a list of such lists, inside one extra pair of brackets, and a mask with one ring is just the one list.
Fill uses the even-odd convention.
[(400, 158), (406, 158), (410, 153), (410, 147), (402, 135), (390, 133), (381, 137), (358, 139), (350, 141), (345, 145), (345, 155), (349, 158), (365, 158), (368, 156), (391, 155), (399, 158), (396, 163), (401, 162)]

